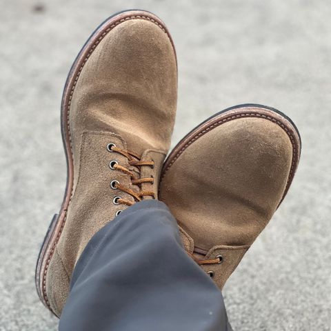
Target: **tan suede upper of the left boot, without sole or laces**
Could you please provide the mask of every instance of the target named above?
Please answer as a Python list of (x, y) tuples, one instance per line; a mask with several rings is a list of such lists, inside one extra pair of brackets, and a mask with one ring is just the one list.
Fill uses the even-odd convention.
[[(72, 270), (86, 244), (114, 219), (120, 196), (110, 188), (116, 179), (136, 190), (130, 177), (110, 170), (116, 160), (128, 167), (128, 159), (108, 152), (108, 143), (143, 154), (154, 168), (141, 167), (142, 177), (154, 177), (143, 190), (157, 197), (165, 155), (170, 147), (177, 104), (177, 63), (168, 35), (155, 23), (129, 20), (113, 28), (94, 49), (72, 95), (69, 125), (74, 159), (74, 186), (66, 223), (46, 277), (52, 310), (59, 316), (68, 297)], [(148, 199), (148, 197), (146, 197)]]

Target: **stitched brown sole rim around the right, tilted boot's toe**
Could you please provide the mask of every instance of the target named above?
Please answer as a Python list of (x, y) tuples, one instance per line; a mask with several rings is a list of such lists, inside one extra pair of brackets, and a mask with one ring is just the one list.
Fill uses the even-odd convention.
[[(282, 202), (288, 192), (288, 189), (290, 188), (294, 173), (296, 172), (299, 164), (301, 154), (301, 137), (293, 121), (285, 114), (283, 114), (277, 109), (257, 105), (254, 103), (246, 103), (243, 105), (234, 106), (222, 110), (221, 112), (214, 114), (209, 119), (206, 119), (205, 121), (203, 121), (203, 123), (199, 124), (199, 126), (186, 134), (186, 136), (181, 139), (181, 141), (179, 141), (177, 146), (174, 147), (172, 152), (170, 152), (167, 159), (165, 160), (161, 173), (161, 181), (165, 176), (165, 173), (171, 168), (172, 164), (174, 164), (174, 162), (180, 157), (184, 150), (188, 148), (188, 146), (190, 146), (192, 143), (194, 143), (194, 141), (197, 141), (197, 139), (202, 137), (203, 134), (209, 132), (213, 128), (217, 128), (217, 126), (220, 126), (221, 124), (228, 121), (249, 117), (266, 119), (268, 121), (276, 123), (288, 134), (288, 137), (290, 138), (290, 141), (292, 143), (292, 165), (290, 168), (290, 174), (285, 187), (285, 191), (281, 199)], [(161, 181), (159, 187), (161, 187)], [(281, 202), (279, 203), (279, 205), (281, 204)]]

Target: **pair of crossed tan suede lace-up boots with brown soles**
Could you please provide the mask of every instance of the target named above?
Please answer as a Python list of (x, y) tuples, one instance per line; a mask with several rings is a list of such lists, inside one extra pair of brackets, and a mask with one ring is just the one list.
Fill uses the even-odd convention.
[(154, 14), (110, 17), (79, 52), (61, 106), (66, 193), (36, 272), (39, 297), (58, 317), (88, 241), (130, 205), (165, 202), (185, 250), (223, 288), (288, 192), (301, 150), (288, 117), (259, 105), (229, 108), (165, 160), (176, 105), (176, 53)]

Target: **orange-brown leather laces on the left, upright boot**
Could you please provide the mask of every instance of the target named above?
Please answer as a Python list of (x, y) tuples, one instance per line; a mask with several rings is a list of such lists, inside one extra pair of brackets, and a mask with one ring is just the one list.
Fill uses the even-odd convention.
[[(131, 152), (130, 150), (123, 150), (122, 148), (118, 148), (114, 145), (111, 146), (110, 150), (112, 152), (117, 152), (119, 154), (122, 154), (124, 157), (128, 159), (129, 165), (132, 166), (132, 169), (123, 167), (123, 165), (119, 165), (117, 162), (114, 163), (112, 169), (119, 170), (124, 174), (128, 174), (131, 178), (131, 183), (133, 185), (139, 186), (142, 183), (154, 183), (154, 179), (152, 177), (145, 177), (145, 178), (140, 177), (141, 167), (149, 166), (150, 168), (154, 168), (154, 161), (143, 161), (141, 160), (141, 157), (137, 153)], [(139, 187), (140, 192), (134, 192), (134, 190), (127, 188), (126, 186), (123, 186), (118, 182), (115, 184), (114, 187), (117, 188), (118, 190), (130, 194), (136, 202), (141, 201), (145, 196), (153, 197), (153, 199), (155, 197), (154, 192), (140, 190), (140, 187)], [(128, 201), (126, 199), (121, 199), (121, 198), (117, 199), (116, 202), (119, 204), (129, 205), (129, 206), (134, 204), (134, 202), (132, 201)]]

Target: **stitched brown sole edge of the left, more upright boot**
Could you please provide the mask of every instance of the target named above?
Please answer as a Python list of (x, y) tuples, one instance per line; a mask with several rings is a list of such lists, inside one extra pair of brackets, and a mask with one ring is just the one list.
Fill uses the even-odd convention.
[[(66, 84), (63, 90), (63, 96), (61, 101), (61, 134), (63, 140), (63, 146), (66, 154), (67, 162), (67, 182), (66, 182), (66, 191), (63, 198), (63, 203), (61, 205), (61, 210), (59, 214), (55, 214), (52, 218), (46, 237), (43, 240), (41, 245), (41, 250), (39, 252), (39, 257), (37, 260), (36, 272), (35, 272), (35, 282), (36, 288), (41, 302), (48, 308), (55, 316), (55, 312), (50, 307), (50, 302), (48, 301), (46, 293), (46, 276), (48, 265), (52, 259), (54, 250), (59, 242), (63, 227), (66, 223), (66, 214), (68, 212), (68, 205), (72, 199), (72, 186), (73, 186), (73, 159), (72, 159), (72, 145), (70, 137), (70, 127), (69, 127), (69, 111), (72, 94), (76, 86), (79, 74), (83, 69), (86, 61), (90, 57), (90, 54), (97, 48), (99, 42), (103, 37), (108, 34), (113, 28), (118, 26), (124, 21), (132, 19), (144, 19), (147, 21), (152, 21), (155, 23), (165, 34), (168, 35), (170, 42), (172, 43), (172, 48), (174, 49), (174, 43), (168, 32), (168, 29), (165, 27), (165, 24), (161, 19), (159, 19), (154, 14), (147, 12), (145, 10), (125, 10), (118, 12), (117, 14), (112, 15), (106, 21), (101, 23), (101, 25), (92, 33), (88, 41), (86, 41), (83, 48), (77, 55), (77, 58), (74, 60)], [(176, 55), (175, 49), (174, 54)]]

